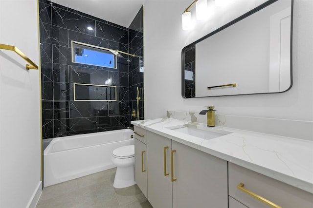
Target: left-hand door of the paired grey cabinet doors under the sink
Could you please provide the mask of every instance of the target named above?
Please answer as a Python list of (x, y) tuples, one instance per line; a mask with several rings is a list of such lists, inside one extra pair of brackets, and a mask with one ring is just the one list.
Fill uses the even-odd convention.
[[(171, 140), (153, 132), (147, 132), (146, 134), (148, 200), (154, 208), (172, 208), (172, 182), (169, 169)], [(164, 162), (166, 166), (164, 166)]]

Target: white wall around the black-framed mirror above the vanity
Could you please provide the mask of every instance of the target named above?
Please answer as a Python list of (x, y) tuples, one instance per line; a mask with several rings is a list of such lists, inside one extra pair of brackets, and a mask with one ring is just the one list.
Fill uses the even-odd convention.
[(148, 0), (144, 4), (146, 119), (166, 117), (166, 110), (200, 112), (203, 106), (210, 105), (216, 107), (218, 114), (313, 121), (312, 0), (294, 0), (291, 90), (281, 94), (183, 99), (180, 93), (182, 48), (224, 25), (231, 16), (239, 16), (235, 11), (243, 3), (246, 9), (261, 3), (242, 0), (219, 8), (210, 21), (198, 21), (193, 30), (183, 31), (181, 14), (191, 2)]

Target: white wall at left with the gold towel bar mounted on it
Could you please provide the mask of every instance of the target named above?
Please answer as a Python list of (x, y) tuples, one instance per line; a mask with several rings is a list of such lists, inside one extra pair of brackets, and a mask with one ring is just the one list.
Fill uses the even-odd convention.
[[(38, 0), (0, 0), (0, 43), (39, 65)], [(0, 51), (0, 207), (34, 207), (41, 193), (40, 74)]]

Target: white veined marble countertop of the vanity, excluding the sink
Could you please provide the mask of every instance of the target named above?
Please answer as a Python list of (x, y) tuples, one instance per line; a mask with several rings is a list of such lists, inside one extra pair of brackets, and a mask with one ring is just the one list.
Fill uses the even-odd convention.
[[(131, 123), (134, 126), (313, 193), (312, 141), (221, 126), (207, 127), (202, 123), (173, 118), (139, 120)], [(197, 129), (208, 130), (210, 128), (212, 131), (231, 133), (213, 139), (202, 139), (171, 130), (173, 127), (186, 124), (193, 125)]]

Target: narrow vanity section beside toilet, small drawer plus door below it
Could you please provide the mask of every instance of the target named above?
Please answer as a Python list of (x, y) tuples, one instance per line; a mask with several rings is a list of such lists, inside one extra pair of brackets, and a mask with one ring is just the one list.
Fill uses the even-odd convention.
[(134, 128), (135, 133), (135, 165), (134, 174), (137, 186), (142, 191), (143, 195), (148, 198), (147, 186), (147, 145), (146, 131), (141, 128)]

